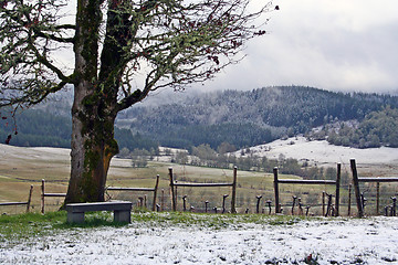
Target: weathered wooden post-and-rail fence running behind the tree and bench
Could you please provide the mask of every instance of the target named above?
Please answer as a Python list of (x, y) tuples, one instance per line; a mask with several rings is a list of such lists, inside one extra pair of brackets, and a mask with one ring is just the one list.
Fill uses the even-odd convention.
[[(301, 184), (301, 186), (306, 186), (306, 184), (318, 184), (318, 186), (335, 186), (336, 187), (336, 193), (335, 193), (335, 208), (333, 211), (333, 204), (332, 204), (332, 195), (329, 194), (328, 197), (326, 197), (326, 193), (324, 192), (323, 194), (323, 214), (325, 215), (325, 201), (328, 198), (328, 203), (327, 203), (327, 212), (326, 215), (331, 212), (333, 212), (334, 216), (338, 216), (339, 215), (339, 208), (341, 205), (341, 163), (337, 163), (337, 176), (336, 176), (336, 180), (300, 180), (300, 179), (279, 179), (279, 173), (277, 173), (277, 168), (275, 167), (273, 169), (273, 174), (274, 174), (274, 187), (273, 187), (273, 191), (274, 191), (274, 198), (275, 198), (275, 213), (281, 213), (281, 201), (280, 201), (280, 187), (279, 184)], [(377, 209), (377, 214), (380, 214), (380, 183), (397, 183), (398, 182), (398, 178), (359, 178), (358, 177), (358, 172), (356, 169), (356, 162), (355, 159), (350, 160), (350, 168), (352, 168), (352, 172), (353, 172), (353, 188), (354, 188), (354, 192), (353, 194), (356, 198), (356, 203), (357, 203), (357, 214), (359, 218), (364, 216), (364, 208), (365, 208), (365, 200), (364, 199), (364, 194), (360, 193), (360, 189), (359, 189), (359, 184), (360, 183), (365, 183), (365, 182), (369, 182), (369, 183), (376, 183), (377, 186), (373, 186), (374, 189), (376, 189), (376, 209)], [(188, 187), (188, 188), (211, 188), (211, 187), (226, 187), (226, 188), (231, 188), (232, 189), (232, 195), (231, 195), (231, 212), (232, 213), (237, 213), (237, 167), (234, 167), (233, 169), (233, 181), (232, 182), (219, 182), (219, 183), (190, 183), (190, 182), (177, 182), (177, 180), (175, 180), (175, 176), (172, 172), (172, 168), (169, 168), (169, 180), (170, 180), (170, 201), (171, 201), (171, 210), (172, 211), (177, 211), (177, 188), (178, 187)], [(154, 188), (126, 188), (126, 187), (107, 187), (106, 190), (107, 191), (132, 191), (132, 192), (154, 192), (154, 200), (153, 200), (153, 205), (151, 205), (151, 210), (156, 211), (159, 210), (160, 206), (161, 209), (165, 205), (165, 191), (163, 190), (161, 197), (159, 198), (159, 200), (161, 201), (161, 204), (157, 204), (157, 197), (158, 197), (158, 187), (159, 187), (159, 176), (156, 177), (156, 182), (155, 182), (155, 187)], [(363, 189), (363, 187), (362, 187)], [(30, 194), (29, 194), (29, 199), (27, 202), (3, 202), (0, 203), (0, 206), (4, 205), (27, 205), (27, 212), (29, 212), (30, 208), (31, 208), (31, 197), (32, 197), (32, 190), (33, 190), (33, 186), (31, 186), (31, 190), (30, 190)], [(272, 191), (272, 190), (269, 190)], [(283, 191), (283, 189), (282, 189)], [(348, 189), (348, 215), (350, 214), (350, 195), (352, 195), (352, 189), (349, 186)], [(371, 193), (373, 197), (375, 197), (375, 193)], [(66, 193), (51, 193), (51, 192), (45, 192), (45, 181), (44, 179), (42, 180), (42, 186), (41, 186), (41, 212), (44, 213), (44, 205), (45, 205), (45, 198), (55, 198), (55, 197), (65, 197)], [(167, 200), (168, 199), (168, 195)], [(394, 197), (395, 198), (395, 197)], [(146, 199), (146, 198), (145, 198)], [(298, 198), (296, 198), (298, 199)], [(391, 197), (392, 199), (392, 197)], [(238, 198), (238, 204), (241, 203), (239, 202)], [(260, 212), (260, 200), (261, 198), (256, 197), (256, 212)], [(384, 200), (384, 199), (383, 199)], [(223, 198), (223, 205), (224, 205), (224, 201), (226, 198)], [(251, 201), (251, 200), (250, 200)], [(249, 202), (250, 202), (249, 201)], [(374, 205), (374, 198), (370, 200)], [(300, 203), (300, 199), (298, 199), (298, 203)], [(198, 202), (199, 203), (199, 202)], [(206, 202), (205, 202), (206, 203)], [(206, 208), (208, 206), (208, 201), (206, 204)], [(251, 202), (250, 202), (251, 203)], [(268, 201), (266, 203), (271, 203), (271, 201)], [(293, 198), (293, 206), (294, 206), (294, 198)], [(346, 204), (344, 204), (346, 205)], [(394, 205), (395, 202), (394, 202)], [(388, 205), (387, 206), (388, 210), (391, 210), (391, 213), (395, 214), (395, 206), (392, 209), (392, 206)], [(332, 210), (331, 210), (332, 209)], [(394, 210), (394, 211), (392, 211)]]

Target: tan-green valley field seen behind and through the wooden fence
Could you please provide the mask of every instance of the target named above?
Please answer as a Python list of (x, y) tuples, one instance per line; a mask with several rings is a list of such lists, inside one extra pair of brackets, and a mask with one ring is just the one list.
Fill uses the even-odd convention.
[[(70, 176), (70, 150), (53, 148), (20, 148), (0, 145), (0, 202), (6, 201), (27, 201), (29, 188), (34, 186), (33, 191), (33, 211), (40, 211), (41, 180), (45, 179), (46, 192), (59, 193), (65, 192)], [(108, 187), (146, 187), (155, 186), (156, 176), (160, 176), (158, 202), (164, 195), (166, 209), (170, 209), (169, 197), (169, 177), (168, 168), (174, 168), (175, 177), (178, 181), (189, 182), (231, 182), (232, 170), (201, 168), (190, 166), (179, 166), (168, 162), (151, 161), (147, 168), (132, 168), (130, 161), (127, 159), (113, 159), (108, 174)], [(359, 172), (362, 176), (375, 176), (375, 171), (383, 168), (380, 165), (360, 165)], [(395, 167), (387, 168), (395, 172)], [(349, 170), (343, 168), (343, 170)], [(280, 176), (280, 178), (298, 178), (295, 176)], [(284, 205), (285, 213), (291, 212), (292, 195), (302, 198), (303, 206), (311, 205), (311, 213), (321, 213), (322, 192), (335, 193), (334, 187), (326, 186), (280, 186), (281, 202)], [(392, 191), (397, 191), (396, 187), (390, 187)], [(163, 191), (161, 191), (163, 190)], [(385, 189), (385, 192), (387, 190)], [(182, 209), (181, 197), (187, 194), (187, 206), (202, 210), (205, 201), (209, 201), (209, 209), (222, 205), (222, 195), (230, 194), (230, 188), (179, 188), (178, 189), (178, 209)], [(238, 192), (237, 206), (240, 212), (249, 209), (250, 212), (255, 211), (256, 195), (262, 195), (261, 211), (268, 213), (266, 200), (274, 200), (273, 174), (253, 171), (240, 171), (238, 169)], [(388, 193), (388, 194), (389, 194)], [(343, 209), (341, 212), (346, 214), (347, 210), (347, 187), (342, 189)], [(113, 199), (130, 200), (135, 204), (138, 197), (147, 195), (148, 206), (151, 203), (153, 194), (150, 193), (133, 193), (133, 192), (115, 192), (108, 191), (108, 195)], [(56, 210), (62, 203), (63, 198), (46, 198), (46, 210)], [(370, 200), (369, 200), (370, 201)], [(387, 202), (386, 202), (387, 203)], [(227, 198), (227, 210), (230, 209), (230, 197)], [(273, 205), (273, 204), (272, 204)], [(353, 210), (354, 201), (353, 201)], [(2, 206), (1, 212), (21, 212), (24, 206)], [(272, 206), (272, 211), (274, 208)]]

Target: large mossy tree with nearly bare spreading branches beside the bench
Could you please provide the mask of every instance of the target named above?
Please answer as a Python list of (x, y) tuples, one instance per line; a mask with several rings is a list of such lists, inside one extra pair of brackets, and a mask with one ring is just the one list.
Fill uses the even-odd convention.
[[(245, 42), (265, 33), (263, 14), (279, 9), (249, 11), (250, 0), (77, 0), (69, 23), (67, 2), (0, 0), (0, 106), (29, 107), (74, 87), (65, 203), (104, 200), (117, 113), (239, 62)], [(56, 61), (63, 49), (74, 54), (72, 70)]]

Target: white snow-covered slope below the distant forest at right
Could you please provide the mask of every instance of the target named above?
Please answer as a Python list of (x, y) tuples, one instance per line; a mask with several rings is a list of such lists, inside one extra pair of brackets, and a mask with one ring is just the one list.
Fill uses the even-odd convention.
[(308, 160), (311, 163), (349, 163), (354, 158), (360, 163), (397, 163), (398, 148), (380, 147), (357, 149), (329, 145), (326, 140), (307, 141), (305, 137), (275, 140), (266, 145), (250, 148), (258, 156), (277, 159), (282, 153), (286, 158)]

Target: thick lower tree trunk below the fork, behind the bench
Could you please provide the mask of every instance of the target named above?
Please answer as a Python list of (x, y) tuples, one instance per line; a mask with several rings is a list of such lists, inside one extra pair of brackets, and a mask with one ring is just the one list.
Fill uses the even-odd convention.
[[(87, 100), (87, 97), (90, 96), (83, 102)], [(93, 104), (96, 105), (96, 102)], [(104, 201), (111, 159), (118, 152), (117, 142), (114, 140), (115, 116), (105, 116), (102, 104), (94, 105), (82, 104), (75, 96), (72, 114), (71, 179), (65, 203)]]

